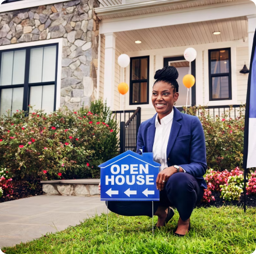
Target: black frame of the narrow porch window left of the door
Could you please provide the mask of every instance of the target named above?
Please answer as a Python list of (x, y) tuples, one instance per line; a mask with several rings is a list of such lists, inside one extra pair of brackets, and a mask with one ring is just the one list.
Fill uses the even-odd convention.
[[(143, 59), (143, 58), (147, 58), (148, 59), (148, 72), (147, 72), (147, 79), (144, 80), (132, 80), (132, 60), (135, 59)], [(129, 105), (144, 105), (144, 104), (149, 104), (149, 56), (136, 56), (136, 57), (131, 57), (131, 65), (130, 65), (130, 99), (129, 99)], [(146, 95), (146, 102), (132, 102), (132, 85), (134, 83), (141, 83), (141, 82), (146, 82), (147, 83), (147, 95)]]

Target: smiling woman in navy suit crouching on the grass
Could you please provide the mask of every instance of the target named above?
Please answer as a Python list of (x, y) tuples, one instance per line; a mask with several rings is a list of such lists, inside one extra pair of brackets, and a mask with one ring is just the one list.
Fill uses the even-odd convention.
[[(153, 118), (141, 123), (138, 131), (137, 153), (152, 153), (160, 163), (157, 189), (160, 201), (154, 202), (157, 227), (163, 227), (179, 213), (177, 236), (190, 229), (190, 216), (195, 204), (207, 189), (203, 175), (206, 173), (205, 135), (197, 116), (180, 113), (173, 105), (179, 97), (178, 71), (166, 66), (155, 73), (152, 104), (157, 111)], [(108, 201), (108, 208), (125, 216), (152, 216), (151, 202)]]

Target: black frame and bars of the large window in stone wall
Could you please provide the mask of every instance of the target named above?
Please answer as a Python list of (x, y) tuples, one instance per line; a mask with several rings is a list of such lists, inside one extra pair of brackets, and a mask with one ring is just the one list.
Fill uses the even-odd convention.
[[(55, 66), (55, 80), (49, 82), (39, 82), (39, 83), (29, 83), (29, 69), (30, 69), (30, 52), (34, 48), (40, 47), (50, 47), (56, 46), (56, 66)], [(26, 60), (25, 60), (25, 76), (24, 76), (24, 84), (18, 85), (0, 85), (0, 105), (1, 105), (1, 91), (2, 89), (11, 89), (16, 87), (24, 87), (23, 89), (23, 104), (22, 110), (28, 111), (29, 101), (30, 101), (30, 87), (31, 86), (46, 86), (46, 85), (54, 85), (54, 111), (56, 110), (56, 90), (57, 90), (57, 72), (58, 72), (58, 55), (59, 55), (59, 43), (50, 43), (43, 44), (37, 46), (29, 46), (29, 47), (20, 47), (20, 48), (10, 48), (8, 50), (0, 51), (0, 77), (1, 77), (1, 66), (2, 66), (2, 53), (8, 51), (18, 51), (18, 50), (26, 50)]]

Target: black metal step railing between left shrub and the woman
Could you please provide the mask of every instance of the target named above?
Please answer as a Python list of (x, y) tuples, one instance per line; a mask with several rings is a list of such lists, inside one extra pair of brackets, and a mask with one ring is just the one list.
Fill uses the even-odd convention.
[[(141, 121), (141, 108), (136, 110), (113, 111), (115, 119), (120, 123), (120, 153), (127, 150), (136, 152), (137, 135)], [(127, 120), (127, 121), (126, 121)]]

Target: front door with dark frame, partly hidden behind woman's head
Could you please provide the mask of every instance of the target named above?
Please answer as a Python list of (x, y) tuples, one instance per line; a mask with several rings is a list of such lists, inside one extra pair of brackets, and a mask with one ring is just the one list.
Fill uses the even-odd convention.
[[(187, 101), (187, 88), (183, 85), (183, 77), (189, 72), (189, 62), (185, 60), (183, 56), (167, 57), (164, 58), (164, 66), (174, 66), (179, 72), (177, 82), (179, 84), (179, 99), (176, 104), (176, 108), (179, 111), (183, 110), (183, 106), (186, 106)], [(196, 77), (196, 60), (191, 62), (191, 74)], [(193, 85), (188, 92), (188, 106), (196, 105), (196, 84)]]

